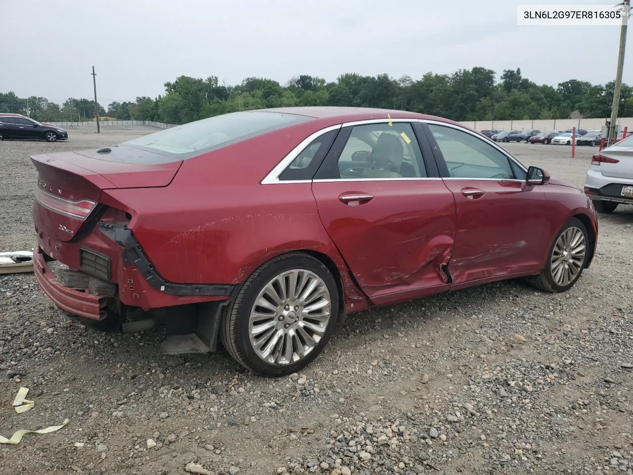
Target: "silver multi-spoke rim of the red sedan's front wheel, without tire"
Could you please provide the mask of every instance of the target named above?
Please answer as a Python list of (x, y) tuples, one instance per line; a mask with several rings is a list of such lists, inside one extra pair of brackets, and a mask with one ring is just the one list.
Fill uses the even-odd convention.
[(582, 270), (586, 253), (585, 235), (577, 227), (568, 227), (558, 236), (551, 255), (552, 279), (564, 287)]

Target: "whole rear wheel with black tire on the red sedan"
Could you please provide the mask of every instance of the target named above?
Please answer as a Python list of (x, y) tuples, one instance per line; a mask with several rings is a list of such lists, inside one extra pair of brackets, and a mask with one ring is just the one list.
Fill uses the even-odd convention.
[(318, 357), (338, 314), (339, 290), (327, 267), (289, 253), (261, 265), (242, 284), (223, 316), (220, 338), (247, 369), (287, 376)]

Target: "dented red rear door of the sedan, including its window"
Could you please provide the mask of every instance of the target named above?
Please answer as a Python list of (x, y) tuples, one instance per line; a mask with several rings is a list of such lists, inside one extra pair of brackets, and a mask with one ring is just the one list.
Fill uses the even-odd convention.
[(374, 303), (448, 288), (444, 265), (455, 234), (453, 194), (441, 178), (430, 176), (410, 124), (385, 121), (373, 127), (378, 134), (389, 127), (387, 133), (406, 137), (401, 138), (404, 161), (415, 175), (381, 176), (371, 163), (383, 153), (367, 133), (372, 125), (344, 127), (317, 172), (312, 190), (320, 219)]

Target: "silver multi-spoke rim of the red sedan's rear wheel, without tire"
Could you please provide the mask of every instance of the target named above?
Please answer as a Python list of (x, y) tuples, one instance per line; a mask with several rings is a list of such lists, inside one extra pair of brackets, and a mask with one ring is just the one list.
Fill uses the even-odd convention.
[(251, 308), (248, 333), (254, 352), (273, 365), (301, 360), (323, 338), (331, 306), (327, 285), (314, 272), (282, 272), (264, 286)]

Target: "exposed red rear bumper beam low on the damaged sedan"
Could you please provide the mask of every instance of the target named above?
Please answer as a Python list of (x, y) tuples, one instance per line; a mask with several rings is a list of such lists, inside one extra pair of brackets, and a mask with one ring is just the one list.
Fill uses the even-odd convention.
[(58, 282), (41, 250), (34, 253), (33, 262), (37, 283), (55, 305), (72, 315), (91, 320), (105, 319), (107, 297), (95, 296), (88, 289), (66, 287)]

